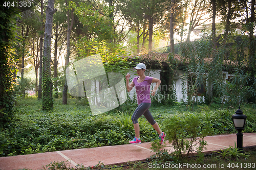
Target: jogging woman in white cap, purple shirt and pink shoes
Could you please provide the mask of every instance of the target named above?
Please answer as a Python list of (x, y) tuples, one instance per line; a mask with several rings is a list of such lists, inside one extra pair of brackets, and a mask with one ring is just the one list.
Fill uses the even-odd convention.
[(143, 63), (139, 63), (134, 69), (137, 70), (138, 77), (135, 77), (131, 84), (129, 84), (129, 79), (131, 77), (130, 74), (125, 76), (126, 78), (126, 88), (127, 91), (131, 91), (133, 87), (136, 89), (137, 99), (138, 99), (138, 107), (133, 113), (132, 122), (134, 125), (135, 130), (135, 138), (129, 143), (132, 144), (140, 144), (140, 126), (138, 123), (138, 118), (141, 115), (144, 115), (147, 121), (153, 126), (153, 128), (159, 134), (159, 138), (161, 139), (160, 143), (163, 143), (165, 134), (160, 130), (159, 125), (154, 120), (151, 112), (148, 110), (151, 106), (151, 99), (150, 99), (150, 85), (151, 83), (157, 83), (155, 88), (152, 91), (151, 95), (154, 96), (156, 94), (156, 90), (160, 85), (161, 81), (159, 79), (145, 76), (145, 69), (146, 66)]

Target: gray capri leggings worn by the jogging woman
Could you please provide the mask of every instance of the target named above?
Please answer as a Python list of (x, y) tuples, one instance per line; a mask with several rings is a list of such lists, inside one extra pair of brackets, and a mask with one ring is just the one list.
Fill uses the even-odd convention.
[(141, 103), (139, 106), (135, 109), (133, 115), (132, 115), (132, 122), (133, 124), (138, 123), (138, 118), (143, 114), (147, 121), (154, 125), (156, 121), (154, 120), (151, 112), (148, 110), (151, 106), (151, 103)]

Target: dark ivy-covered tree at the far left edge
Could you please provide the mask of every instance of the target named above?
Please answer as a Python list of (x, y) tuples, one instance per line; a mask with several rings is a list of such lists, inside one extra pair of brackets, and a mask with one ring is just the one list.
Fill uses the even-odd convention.
[(0, 6), (0, 126), (12, 118), (14, 74), (17, 74), (14, 46), (17, 8)]

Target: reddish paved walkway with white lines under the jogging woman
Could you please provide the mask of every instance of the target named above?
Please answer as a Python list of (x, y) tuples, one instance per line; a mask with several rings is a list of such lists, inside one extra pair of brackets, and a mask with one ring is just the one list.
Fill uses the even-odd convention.
[[(217, 151), (234, 146), (237, 142), (236, 134), (208, 136), (207, 150), (205, 152)], [(168, 144), (168, 141), (166, 142)], [(243, 147), (256, 145), (256, 133), (244, 133)], [(97, 163), (116, 164), (127, 161), (145, 160), (155, 153), (150, 149), (150, 142), (141, 144), (124, 144), (116, 146), (87, 148), (67, 151), (39, 153), (31, 155), (19, 155), (0, 158), (0, 169), (42, 169), (51, 162), (70, 161), (71, 166), (77, 164), (84, 166), (95, 166)]]

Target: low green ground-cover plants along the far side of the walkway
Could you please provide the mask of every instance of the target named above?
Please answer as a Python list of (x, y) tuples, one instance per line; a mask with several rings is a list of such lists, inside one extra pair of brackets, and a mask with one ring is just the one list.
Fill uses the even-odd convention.
[[(62, 105), (61, 99), (56, 99), (53, 110), (44, 113), (40, 111), (41, 104), (36, 98), (19, 98), (14, 119), (7, 128), (0, 129), (1, 156), (126, 144), (135, 136), (131, 114), (136, 107), (128, 108), (127, 112), (113, 110), (93, 116), (88, 106), (76, 103), (76, 99), (70, 99), (69, 105)], [(243, 132), (256, 132), (255, 108), (251, 106), (242, 107), (248, 116)], [(198, 106), (195, 107), (195, 112), (190, 112), (186, 111), (185, 106), (174, 105), (151, 107), (150, 111), (161, 129), (169, 133), (169, 137), (172, 130), (169, 126), (174, 124), (176, 119), (182, 125), (195, 120), (191, 126), (196, 128), (183, 134), (180, 132), (181, 125), (176, 123), (173, 128), (177, 127), (177, 137), (183, 135), (186, 138), (189, 133), (200, 136), (204, 132), (203, 128), (210, 124), (214, 135), (236, 132), (231, 122), (231, 115), (235, 110), (217, 110), (214, 107), (217, 106)], [(174, 114), (177, 118), (173, 118)], [(143, 116), (140, 117), (139, 123), (143, 142), (157, 138), (157, 132)], [(189, 124), (184, 126), (188, 127)]]

